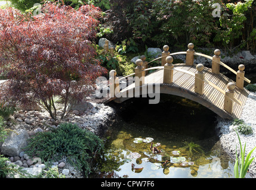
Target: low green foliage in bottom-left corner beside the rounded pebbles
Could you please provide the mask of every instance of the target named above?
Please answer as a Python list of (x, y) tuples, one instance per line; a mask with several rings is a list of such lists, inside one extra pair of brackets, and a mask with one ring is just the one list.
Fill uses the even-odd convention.
[(14, 175), (19, 174), (21, 178), (24, 178), (26, 172), (21, 170), (21, 167), (17, 167), (16, 164), (7, 164), (8, 158), (0, 155), (0, 178), (5, 178), (7, 175), (14, 177)]

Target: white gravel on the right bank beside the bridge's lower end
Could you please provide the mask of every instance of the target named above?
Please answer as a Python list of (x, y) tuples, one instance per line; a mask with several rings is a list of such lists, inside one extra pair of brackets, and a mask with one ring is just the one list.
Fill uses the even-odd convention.
[[(242, 110), (240, 119), (252, 126), (253, 133), (251, 135), (239, 134), (242, 148), (246, 143), (245, 154), (247, 154), (256, 146), (256, 93), (249, 93), (248, 99), (246, 100), (245, 106)], [(228, 153), (234, 158), (236, 155), (236, 145), (238, 147), (238, 153), (240, 152), (240, 144), (238, 135), (235, 131), (230, 132), (229, 127), (232, 125), (232, 121), (218, 118), (217, 128), (220, 128), (220, 141), (221, 144)], [(251, 158), (256, 157), (256, 150), (251, 154)], [(249, 173), (252, 178), (256, 178), (256, 159), (252, 162), (249, 167)]]

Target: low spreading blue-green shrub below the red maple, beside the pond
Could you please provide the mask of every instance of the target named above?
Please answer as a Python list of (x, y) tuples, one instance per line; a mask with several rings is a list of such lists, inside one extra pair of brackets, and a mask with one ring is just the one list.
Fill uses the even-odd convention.
[(90, 172), (88, 162), (103, 148), (103, 141), (92, 132), (73, 124), (61, 124), (52, 132), (39, 132), (29, 140), (26, 153), (37, 155), (42, 160), (53, 161), (63, 157), (85, 175)]

